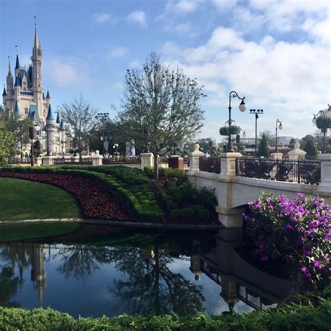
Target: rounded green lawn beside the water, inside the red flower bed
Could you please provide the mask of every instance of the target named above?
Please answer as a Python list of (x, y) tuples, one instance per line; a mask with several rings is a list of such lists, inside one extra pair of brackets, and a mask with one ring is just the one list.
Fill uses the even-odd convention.
[(0, 221), (80, 217), (78, 201), (58, 187), (0, 178)]

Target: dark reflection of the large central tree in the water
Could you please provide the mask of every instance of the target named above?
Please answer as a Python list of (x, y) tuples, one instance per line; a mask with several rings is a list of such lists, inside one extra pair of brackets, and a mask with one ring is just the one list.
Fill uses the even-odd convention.
[(172, 258), (165, 249), (154, 247), (153, 258), (141, 258), (142, 249), (115, 247), (108, 257), (128, 280), (115, 280), (115, 294), (126, 300), (131, 314), (193, 314), (203, 310), (202, 287), (191, 284), (182, 274), (172, 272)]

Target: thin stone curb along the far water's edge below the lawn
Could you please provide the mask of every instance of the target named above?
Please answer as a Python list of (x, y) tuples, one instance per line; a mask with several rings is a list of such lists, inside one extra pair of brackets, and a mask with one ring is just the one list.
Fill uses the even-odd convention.
[(109, 221), (107, 219), (25, 219), (21, 221), (0, 221), (0, 226), (15, 226), (22, 224), (42, 224), (42, 223), (89, 223), (105, 224), (108, 226), (124, 226), (133, 228), (165, 228), (182, 230), (220, 230), (224, 226), (220, 224), (196, 225), (196, 224), (162, 224), (162, 223), (138, 223), (125, 221)]

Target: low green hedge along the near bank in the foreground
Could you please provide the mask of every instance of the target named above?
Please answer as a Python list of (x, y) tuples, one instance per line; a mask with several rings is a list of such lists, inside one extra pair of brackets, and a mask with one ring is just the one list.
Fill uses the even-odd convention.
[(53, 309), (0, 307), (0, 330), (330, 330), (331, 300), (249, 314), (78, 318)]

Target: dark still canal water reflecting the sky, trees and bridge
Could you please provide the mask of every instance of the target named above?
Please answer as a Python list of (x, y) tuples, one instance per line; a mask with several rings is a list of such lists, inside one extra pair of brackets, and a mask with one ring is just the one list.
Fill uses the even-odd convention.
[(284, 303), (292, 282), (256, 269), (220, 237), (129, 230), (84, 244), (0, 244), (0, 306), (98, 317), (222, 314)]

